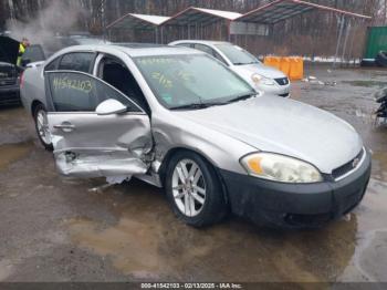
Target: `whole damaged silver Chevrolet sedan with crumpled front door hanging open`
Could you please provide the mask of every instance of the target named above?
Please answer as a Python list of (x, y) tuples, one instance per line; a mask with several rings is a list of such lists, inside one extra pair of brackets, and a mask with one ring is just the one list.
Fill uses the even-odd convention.
[(369, 180), (370, 154), (349, 124), (259, 95), (199, 51), (73, 46), (28, 69), (21, 93), (61, 174), (164, 187), (191, 226), (230, 210), (324, 225), (357, 206)]

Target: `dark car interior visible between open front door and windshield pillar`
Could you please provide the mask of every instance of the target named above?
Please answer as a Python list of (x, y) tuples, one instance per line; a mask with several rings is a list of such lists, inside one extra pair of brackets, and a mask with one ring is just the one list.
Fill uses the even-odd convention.
[(111, 84), (137, 105), (139, 105), (147, 114), (150, 114), (149, 105), (132, 75), (130, 71), (117, 59), (104, 58), (100, 64), (100, 77)]

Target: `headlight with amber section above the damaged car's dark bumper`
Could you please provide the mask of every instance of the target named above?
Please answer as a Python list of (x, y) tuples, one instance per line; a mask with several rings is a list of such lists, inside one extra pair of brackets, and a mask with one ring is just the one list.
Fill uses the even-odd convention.
[(320, 172), (311, 164), (272, 153), (254, 153), (241, 159), (250, 175), (281, 183), (318, 183)]

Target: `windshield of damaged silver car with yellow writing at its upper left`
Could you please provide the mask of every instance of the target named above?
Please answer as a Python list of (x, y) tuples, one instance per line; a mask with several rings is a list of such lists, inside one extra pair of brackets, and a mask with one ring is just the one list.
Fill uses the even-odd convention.
[(206, 54), (136, 58), (159, 102), (168, 108), (200, 108), (255, 95), (233, 72)]

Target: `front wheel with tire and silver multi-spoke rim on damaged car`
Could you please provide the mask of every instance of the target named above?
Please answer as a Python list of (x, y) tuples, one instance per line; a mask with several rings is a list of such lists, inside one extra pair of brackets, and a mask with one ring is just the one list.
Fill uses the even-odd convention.
[(178, 152), (166, 174), (166, 191), (176, 216), (194, 227), (220, 221), (227, 204), (213, 167), (192, 152)]

